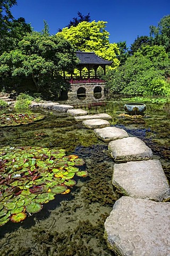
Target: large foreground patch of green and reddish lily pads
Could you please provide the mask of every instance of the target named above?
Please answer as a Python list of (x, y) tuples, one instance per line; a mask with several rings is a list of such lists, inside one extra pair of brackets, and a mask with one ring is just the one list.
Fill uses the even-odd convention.
[[(84, 161), (65, 150), (40, 147), (0, 150), (0, 226), (23, 221), (39, 212), (55, 195), (70, 193), (75, 175), (87, 176), (77, 166)], [(69, 188), (68, 188), (69, 187)]]

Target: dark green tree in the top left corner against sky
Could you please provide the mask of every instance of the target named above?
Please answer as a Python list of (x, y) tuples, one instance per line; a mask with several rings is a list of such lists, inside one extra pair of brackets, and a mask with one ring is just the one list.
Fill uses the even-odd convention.
[(14, 19), (10, 9), (15, 4), (15, 0), (0, 2), (0, 55), (14, 50), (23, 36), (32, 31), (24, 18)]

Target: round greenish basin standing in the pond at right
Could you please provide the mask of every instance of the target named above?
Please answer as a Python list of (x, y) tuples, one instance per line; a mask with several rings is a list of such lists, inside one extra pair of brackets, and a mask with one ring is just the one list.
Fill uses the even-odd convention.
[(124, 110), (130, 115), (142, 115), (146, 108), (144, 103), (126, 103), (124, 105)]

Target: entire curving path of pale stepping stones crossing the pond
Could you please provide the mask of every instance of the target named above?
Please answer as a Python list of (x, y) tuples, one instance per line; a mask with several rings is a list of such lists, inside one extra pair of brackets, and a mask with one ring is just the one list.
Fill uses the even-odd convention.
[[(152, 160), (151, 149), (140, 139), (128, 137), (123, 129), (111, 127), (108, 114), (86, 115), (83, 109), (76, 111), (70, 105), (54, 105), (52, 109), (67, 111), (89, 129), (96, 128), (98, 138), (111, 141), (109, 153), (120, 162), (114, 165), (113, 185), (129, 196), (116, 201), (105, 221), (108, 247), (120, 256), (169, 256), (170, 203), (154, 202), (168, 199), (169, 185), (160, 162)], [(108, 122), (108, 127), (101, 128), (103, 122)]]

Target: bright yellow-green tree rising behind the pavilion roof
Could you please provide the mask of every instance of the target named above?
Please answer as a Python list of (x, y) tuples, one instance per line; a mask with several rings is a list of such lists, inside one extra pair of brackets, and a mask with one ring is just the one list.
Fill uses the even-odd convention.
[(120, 64), (116, 55), (119, 54), (117, 44), (109, 43), (106, 21), (82, 21), (76, 27), (63, 28), (58, 37), (68, 39), (77, 51), (95, 52), (99, 57), (113, 61), (112, 67)]

